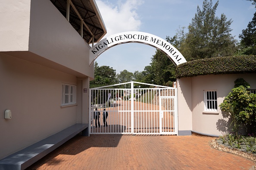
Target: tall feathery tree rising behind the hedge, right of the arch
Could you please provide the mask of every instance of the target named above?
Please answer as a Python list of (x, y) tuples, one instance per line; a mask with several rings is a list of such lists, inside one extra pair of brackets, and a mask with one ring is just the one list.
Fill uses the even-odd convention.
[(220, 18), (215, 16), (218, 4), (219, 1), (212, 6), (212, 0), (204, 0), (202, 10), (197, 6), (188, 33), (180, 29), (180, 33), (169, 39), (181, 43), (177, 47), (187, 61), (233, 55), (236, 51), (236, 40), (230, 34), (232, 21), (227, 21), (224, 14)]

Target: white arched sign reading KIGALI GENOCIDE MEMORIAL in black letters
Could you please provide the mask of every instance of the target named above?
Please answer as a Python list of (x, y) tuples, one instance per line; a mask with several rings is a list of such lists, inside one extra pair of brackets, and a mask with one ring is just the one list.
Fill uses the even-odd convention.
[(109, 36), (94, 45), (90, 49), (90, 66), (101, 53), (113, 46), (123, 43), (143, 43), (149, 46), (153, 46), (156, 49), (164, 52), (170, 58), (173, 64), (175, 64), (175, 66), (187, 62), (183, 55), (174, 46), (172, 46), (164, 39), (150, 33), (129, 31)]

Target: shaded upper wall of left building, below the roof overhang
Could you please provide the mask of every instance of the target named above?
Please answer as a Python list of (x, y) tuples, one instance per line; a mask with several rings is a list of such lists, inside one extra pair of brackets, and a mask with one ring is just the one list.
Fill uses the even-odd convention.
[(89, 49), (50, 0), (31, 1), (29, 52), (94, 77), (94, 66), (89, 67)]

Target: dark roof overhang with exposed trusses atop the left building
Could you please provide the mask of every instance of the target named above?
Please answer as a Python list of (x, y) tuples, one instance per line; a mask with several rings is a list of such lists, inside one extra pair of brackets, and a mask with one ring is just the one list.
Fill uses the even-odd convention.
[[(67, 8), (69, 6), (67, 0), (50, 1), (63, 16), (67, 17), (69, 13), (69, 23), (82, 34), (81, 36), (88, 44), (99, 42), (106, 34), (106, 27), (95, 0), (69, 0), (71, 4), (69, 8)], [(81, 23), (84, 24), (82, 28)]]

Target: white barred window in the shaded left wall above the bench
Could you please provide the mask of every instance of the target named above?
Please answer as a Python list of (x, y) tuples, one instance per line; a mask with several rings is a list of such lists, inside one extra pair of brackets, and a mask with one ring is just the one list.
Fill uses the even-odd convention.
[(76, 85), (62, 83), (61, 106), (76, 104)]

